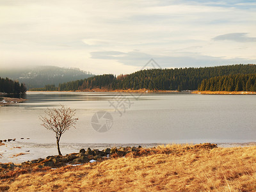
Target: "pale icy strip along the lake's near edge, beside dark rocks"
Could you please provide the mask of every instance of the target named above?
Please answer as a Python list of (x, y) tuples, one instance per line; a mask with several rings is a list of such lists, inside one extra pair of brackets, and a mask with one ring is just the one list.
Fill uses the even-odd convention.
[[(0, 140), (1, 141), (1, 140)], [(218, 143), (214, 142), (220, 148), (232, 147), (252, 147), (256, 146), (256, 142), (248, 141), (244, 143)], [(153, 148), (159, 145), (196, 145), (196, 143), (60, 143), (62, 154), (67, 155), (79, 151), (81, 148), (97, 148), (104, 150), (113, 147), (138, 147)], [(32, 161), (33, 159), (45, 158), (57, 154), (56, 143), (30, 143), (28, 141), (3, 141), (0, 143), (0, 163), (19, 164), (24, 161)], [(16, 156), (22, 154), (22, 156)]]

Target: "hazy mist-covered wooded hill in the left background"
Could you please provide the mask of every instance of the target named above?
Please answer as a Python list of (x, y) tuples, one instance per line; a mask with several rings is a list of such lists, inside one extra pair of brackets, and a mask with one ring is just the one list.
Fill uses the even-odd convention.
[(61, 68), (55, 66), (36, 66), (22, 67), (12, 69), (1, 69), (0, 77), (8, 77), (17, 80), (19, 83), (26, 84), (27, 88), (40, 88), (45, 84), (54, 84), (68, 81), (76, 81), (77, 79), (85, 79), (94, 76), (90, 72), (80, 70), (79, 68)]

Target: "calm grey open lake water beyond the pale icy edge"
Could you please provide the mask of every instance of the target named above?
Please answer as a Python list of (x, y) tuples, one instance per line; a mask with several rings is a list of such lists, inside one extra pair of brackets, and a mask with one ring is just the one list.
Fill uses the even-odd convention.
[[(38, 116), (62, 104), (76, 109), (79, 120), (76, 129), (65, 132), (61, 143), (256, 141), (256, 95), (28, 92), (26, 99), (0, 108), (0, 140), (55, 143), (54, 132), (44, 129)], [(109, 131), (93, 129), (97, 111), (112, 116)], [(99, 125), (103, 124), (100, 119)]]

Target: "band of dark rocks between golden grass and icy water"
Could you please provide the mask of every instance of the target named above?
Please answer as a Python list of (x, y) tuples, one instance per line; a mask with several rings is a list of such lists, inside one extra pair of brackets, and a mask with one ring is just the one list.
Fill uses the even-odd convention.
[[(0, 179), (11, 177), (8, 172), (13, 172), (15, 169), (26, 170), (26, 173), (29, 170), (41, 170), (45, 167), (48, 168), (59, 168), (61, 166), (78, 165), (84, 163), (94, 163), (96, 161), (104, 161), (109, 158), (118, 158), (118, 157), (140, 157), (148, 156), (152, 154), (180, 154), (186, 150), (200, 150), (216, 148), (216, 144), (203, 143), (198, 145), (188, 145), (182, 148), (177, 148), (177, 150), (159, 150), (158, 147), (153, 148), (143, 148), (139, 147), (120, 147), (120, 148), (106, 148), (104, 150), (91, 149), (87, 148), (85, 150), (82, 148), (79, 153), (67, 154), (66, 156), (48, 156), (45, 159), (35, 159), (32, 161), (26, 161), (21, 164), (14, 163), (0, 163)], [(24, 171), (25, 172), (25, 171)], [(9, 176), (8, 176), (9, 175)]]

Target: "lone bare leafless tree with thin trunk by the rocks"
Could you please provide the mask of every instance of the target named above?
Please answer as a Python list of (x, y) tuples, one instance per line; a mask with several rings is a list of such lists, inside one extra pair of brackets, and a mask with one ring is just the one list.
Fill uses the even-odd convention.
[(74, 125), (76, 125), (76, 121), (78, 118), (74, 118), (74, 115), (76, 115), (76, 110), (65, 108), (65, 106), (61, 105), (60, 109), (48, 109), (45, 111), (46, 116), (40, 116), (40, 120), (42, 120), (43, 124), (41, 124), (43, 127), (45, 127), (48, 130), (51, 130), (55, 132), (56, 140), (57, 140), (57, 147), (58, 147), (58, 153), (60, 156), (60, 138), (61, 135), (70, 129), (70, 127), (76, 128)]

